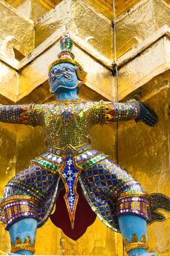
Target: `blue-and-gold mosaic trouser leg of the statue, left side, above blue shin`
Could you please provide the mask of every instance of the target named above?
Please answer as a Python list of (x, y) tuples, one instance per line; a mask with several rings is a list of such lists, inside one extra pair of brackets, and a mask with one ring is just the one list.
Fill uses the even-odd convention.
[[(39, 222), (41, 222), (42, 219), (45, 217), (45, 214), (50, 214), (51, 209), (49, 208), (51, 201), (53, 200), (55, 188), (58, 184), (58, 177), (58, 173), (51, 173), (49, 170), (45, 170), (43, 167), (40, 167), (36, 164), (30, 165), (29, 167), (18, 173), (14, 178), (12, 178), (12, 180), (9, 181), (9, 183), (5, 187), (4, 210), (6, 206), (11, 206), (13, 203), (16, 203), (18, 201), (20, 202), (19, 199), (21, 197), (23, 202), (31, 202), (32, 208), (34, 208), (34, 211), (28, 211), (28, 217), (34, 217), (36, 219), (39, 219)], [(18, 198), (16, 198), (16, 196), (18, 196)], [(32, 199), (28, 198), (28, 196), (30, 196)], [(35, 200), (33, 200), (34, 198)], [(25, 208), (22, 208), (20, 210), (18, 208), (18, 211), (12, 211), (12, 217), (10, 218), (9, 215), (6, 214), (6, 229), (8, 230), (9, 227), (16, 221), (16, 219), (26, 218), (26, 215), (24, 213)], [(20, 216), (18, 214), (20, 214)]]

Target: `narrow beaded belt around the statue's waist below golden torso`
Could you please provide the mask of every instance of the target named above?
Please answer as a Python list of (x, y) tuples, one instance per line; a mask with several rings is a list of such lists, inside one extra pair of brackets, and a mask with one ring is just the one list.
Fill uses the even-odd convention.
[(63, 156), (63, 154), (81, 154), (85, 151), (88, 151), (91, 149), (91, 146), (89, 144), (85, 144), (82, 146), (73, 147), (72, 145), (66, 146), (66, 148), (53, 148), (48, 146), (47, 151), (52, 154), (57, 154), (58, 156)]

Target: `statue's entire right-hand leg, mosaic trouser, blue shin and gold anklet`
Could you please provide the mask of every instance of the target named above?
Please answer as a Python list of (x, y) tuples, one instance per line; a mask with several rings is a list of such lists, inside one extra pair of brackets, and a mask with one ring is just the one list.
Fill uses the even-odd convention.
[(113, 230), (120, 230), (128, 255), (147, 252), (147, 194), (115, 162), (98, 162), (81, 173), (82, 189), (93, 210)]

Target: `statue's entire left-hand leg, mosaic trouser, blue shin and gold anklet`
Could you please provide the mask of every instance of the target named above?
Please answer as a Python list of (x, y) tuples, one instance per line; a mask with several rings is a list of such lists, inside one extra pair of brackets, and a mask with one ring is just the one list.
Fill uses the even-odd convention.
[(57, 181), (57, 173), (33, 164), (18, 173), (5, 187), (3, 204), (11, 252), (34, 254), (37, 225), (50, 212)]

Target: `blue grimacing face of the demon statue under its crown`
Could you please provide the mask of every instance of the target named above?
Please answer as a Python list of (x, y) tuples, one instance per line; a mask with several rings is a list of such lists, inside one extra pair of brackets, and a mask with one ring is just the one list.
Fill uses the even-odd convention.
[(77, 74), (73, 64), (61, 63), (56, 64), (50, 69), (50, 87), (51, 92), (66, 92), (77, 87)]

